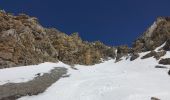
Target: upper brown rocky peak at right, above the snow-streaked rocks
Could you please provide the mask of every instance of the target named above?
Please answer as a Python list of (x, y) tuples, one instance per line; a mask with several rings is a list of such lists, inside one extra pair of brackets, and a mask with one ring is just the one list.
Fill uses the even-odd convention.
[(170, 38), (170, 17), (159, 17), (157, 20), (133, 43), (134, 51), (150, 51), (162, 45)]

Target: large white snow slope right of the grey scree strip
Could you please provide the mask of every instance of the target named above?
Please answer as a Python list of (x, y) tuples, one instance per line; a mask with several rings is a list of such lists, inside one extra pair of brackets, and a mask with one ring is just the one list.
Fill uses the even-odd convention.
[(60, 79), (44, 93), (18, 100), (170, 100), (168, 69), (154, 68), (157, 62), (154, 58), (132, 62), (124, 58), (118, 63), (76, 65), (78, 70), (69, 69), (70, 77)]

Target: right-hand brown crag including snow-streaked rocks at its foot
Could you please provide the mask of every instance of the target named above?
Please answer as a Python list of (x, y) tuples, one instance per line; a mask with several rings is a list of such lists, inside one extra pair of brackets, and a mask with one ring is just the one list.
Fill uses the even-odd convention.
[[(155, 50), (160, 47), (158, 50)], [(131, 52), (140, 53), (150, 51), (142, 59), (154, 57), (166, 64), (170, 60), (160, 59), (170, 50), (170, 17), (158, 17), (156, 21), (133, 43)]]

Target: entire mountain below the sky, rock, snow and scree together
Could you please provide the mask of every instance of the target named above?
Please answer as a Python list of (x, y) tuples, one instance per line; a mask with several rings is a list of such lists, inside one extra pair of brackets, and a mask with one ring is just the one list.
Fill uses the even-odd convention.
[(170, 17), (132, 44), (83, 41), (0, 11), (0, 100), (170, 100)]

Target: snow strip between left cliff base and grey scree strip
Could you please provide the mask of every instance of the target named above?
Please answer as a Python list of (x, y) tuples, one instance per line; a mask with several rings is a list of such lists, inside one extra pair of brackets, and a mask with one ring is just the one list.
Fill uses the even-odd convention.
[(36, 77), (38, 73), (41, 75), (43, 73), (48, 73), (55, 67), (66, 67), (67, 65), (62, 62), (58, 63), (43, 63), (39, 65), (23, 66), (6, 68), (0, 70), (0, 85), (6, 83), (20, 83), (27, 82)]

